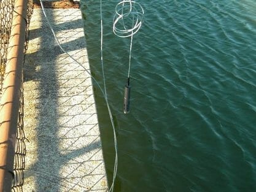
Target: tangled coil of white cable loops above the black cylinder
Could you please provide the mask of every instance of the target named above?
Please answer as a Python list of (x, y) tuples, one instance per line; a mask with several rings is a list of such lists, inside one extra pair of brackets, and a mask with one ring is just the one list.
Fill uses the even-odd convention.
[(131, 37), (142, 25), (144, 10), (138, 2), (123, 0), (115, 6), (113, 32), (118, 37)]

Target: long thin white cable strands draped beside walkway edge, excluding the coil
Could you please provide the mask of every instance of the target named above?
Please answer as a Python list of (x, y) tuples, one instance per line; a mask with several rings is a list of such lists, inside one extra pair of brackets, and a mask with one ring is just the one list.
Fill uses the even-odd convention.
[(75, 63), (79, 64), (79, 66), (81, 66), (83, 69), (85, 69), (85, 71), (90, 75), (91, 79), (93, 79), (96, 83), (96, 85), (99, 87), (99, 90), (101, 90), (101, 93), (103, 93), (104, 99), (106, 101), (107, 104), (107, 110), (109, 112), (109, 118), (111, 119), (111, 125), (112, 125), (112, 129), (113, 129), (113, 133), (114, 133), (114, 147), (115, 147), (115, 163), (114, 163), (114, 174), (113, 174), (113, 180), (112, 180), (112, 185), (111, 188), (109, 189), (110, 192), (112, 192), (114, 190), (114, 183), (115, 183), (115, 177), (117, 175), (117, 164), (118, 164), (118, 156), (117, 156), (117, 136), (115, 133), (115, 125), (114, 125), (114, 120), (112, 117), (112, 113), (111, 113), (111, 108), (109, 107), (109, 102), (107, 100), (107, 91), (106, 91), (106, 79), (105, 79), (105, 74), (104, 74), (104, 63), (103, 63), (103, 16), (102, 16), (102, 4), (101, 4), (101, 8), (100, 8), (100, 12), (101, 12), (101, 67), (103, 69), (103, 82), (104, 82), (104, 91), (103, 88), (101, 88), (101, 86), (99, 85), (98, 81), (91, 75), (90, 71), (88, 71), (88, 69), (86, 69), (81, 63), (79, 63), (77, 60), (75, 60), (68, 52), (66, 52), (66, 50), (64, 50), (64, 48), (61, 46), (60, 41), (58, 40), (58, 38), (56, 37), (55, 31), (52, 28), (52, 25), (50, 24), (50, 21), (48, 20), (48, 17), (45, 13), (45, 9), (44, 9), (44, 4), (42, 3), (42, 0), (40, 0), (41, 3), (41, 7), (42, 7), (42, 11), (44, 13), (44, 17), (48, 23), (48, 25), (50, 26), (50, 29), (52, 31), (53, 36), (55, 37), (55, 40), (58, 44), (58, 46), (61, 48), (61, 50), (66, 53), (66, 55), (69, 56), (69, 58), (71, 58)]

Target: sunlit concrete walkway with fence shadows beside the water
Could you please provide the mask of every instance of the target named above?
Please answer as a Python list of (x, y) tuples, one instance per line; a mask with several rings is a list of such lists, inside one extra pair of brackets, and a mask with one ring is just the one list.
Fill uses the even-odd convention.
[[(89, 69), (79, 9), (47, 9), (63, 47)], [(91, 78), (34, 9), (25, 63), (24, 192), (107, 191)]]

